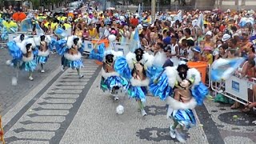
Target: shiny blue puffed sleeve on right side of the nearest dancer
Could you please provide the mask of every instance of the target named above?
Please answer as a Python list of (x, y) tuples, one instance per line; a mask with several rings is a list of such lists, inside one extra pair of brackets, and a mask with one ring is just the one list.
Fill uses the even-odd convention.
[(206, 87), (202, 82), (200, 82), (197, 86), (194, 86), (194, 89), (192, 90), (192, 96), (195, 98), (199, 106), (202, 105), (202, 102), (206, 98), (207, 94), (209, 94), (208, 87)]

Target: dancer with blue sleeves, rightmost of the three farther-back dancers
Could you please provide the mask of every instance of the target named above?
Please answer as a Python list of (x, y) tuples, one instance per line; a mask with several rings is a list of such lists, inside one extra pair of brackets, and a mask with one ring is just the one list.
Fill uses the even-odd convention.
[(57, 53), (62, 55), (62, 70), (66, 67), (76, 69), (78, 77), (83, 78), (83, 75), (80, 74), (80, 69), (83, 67), (81, 59), (83, 45), (81, 38), (72, 35), (55, 42), (55, 46)]

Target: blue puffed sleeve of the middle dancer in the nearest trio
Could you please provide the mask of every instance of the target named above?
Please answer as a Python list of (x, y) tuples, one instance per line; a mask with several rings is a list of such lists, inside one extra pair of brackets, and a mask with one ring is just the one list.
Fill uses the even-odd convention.
[(120, 74), (123, 78), (130, 79), (131, 78), (131, 70), (129, 68), (128, 63), (126, 62), (126, 58), (118, 57), (114, 62), (114, 70)]

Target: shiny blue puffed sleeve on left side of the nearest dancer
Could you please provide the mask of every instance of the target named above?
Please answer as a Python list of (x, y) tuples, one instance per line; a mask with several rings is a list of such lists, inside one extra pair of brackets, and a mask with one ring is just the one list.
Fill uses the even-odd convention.
[(149, 90), (155, 97), (159, 97), (161, 100), (166, 100), (168, 96), (173, 93), (172, 88), (168, 85), (168, 77), (166, 74), (155, 74), (150, 80)]

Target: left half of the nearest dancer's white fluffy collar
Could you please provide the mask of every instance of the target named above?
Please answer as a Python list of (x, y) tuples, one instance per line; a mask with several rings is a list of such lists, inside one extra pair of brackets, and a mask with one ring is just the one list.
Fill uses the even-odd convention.
[(168, 77), (169, 86), (173, 88), (178, 78), (177, 66), (167, 66), (165, 73), (166, 73), (166, 76)]

